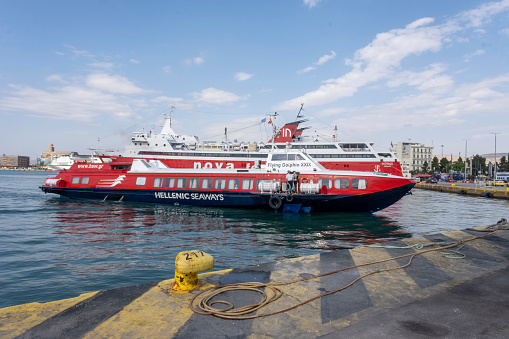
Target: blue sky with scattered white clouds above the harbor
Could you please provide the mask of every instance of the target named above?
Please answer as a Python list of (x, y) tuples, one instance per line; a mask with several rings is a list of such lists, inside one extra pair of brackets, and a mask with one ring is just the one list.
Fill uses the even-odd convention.
[[(509, 0), (0, 2), (0, 153), (119, 149), (172, 126), (509, 152)], [(496, 139), (496, 143), (495, 143)]]

